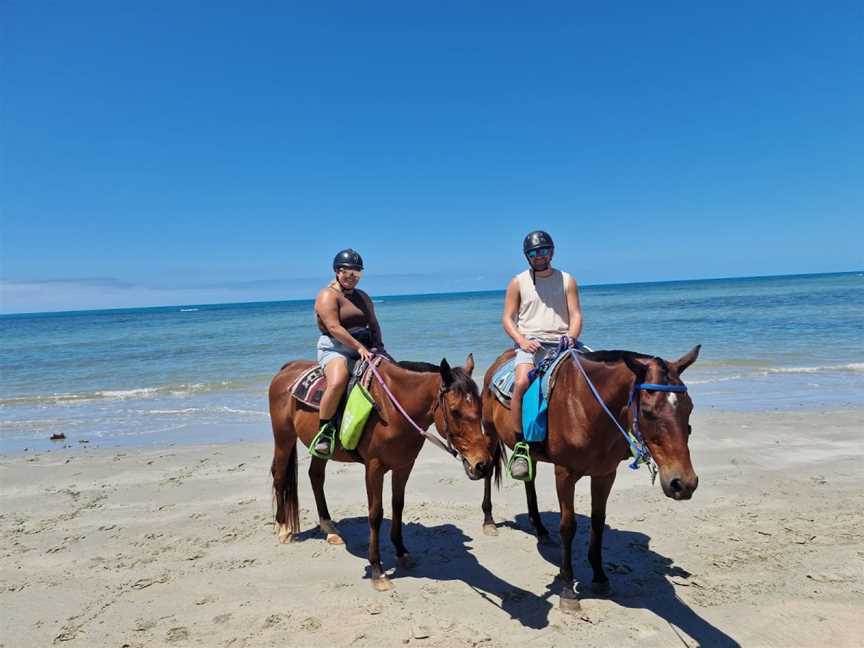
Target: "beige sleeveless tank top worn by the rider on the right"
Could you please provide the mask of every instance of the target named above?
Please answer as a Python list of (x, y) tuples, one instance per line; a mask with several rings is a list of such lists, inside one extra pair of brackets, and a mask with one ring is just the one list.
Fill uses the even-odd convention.
[(516, 328), (526, 337), (535, 337), (546, 342), (557, 342), (567, 335), (570, 327), (570, 311), (567, 310), (567, 293), (564, 287), (570, 275), (552, 270), (548, 277), (535, 276), (526, 270), (516, 275), (519, 282), (519, 317)]

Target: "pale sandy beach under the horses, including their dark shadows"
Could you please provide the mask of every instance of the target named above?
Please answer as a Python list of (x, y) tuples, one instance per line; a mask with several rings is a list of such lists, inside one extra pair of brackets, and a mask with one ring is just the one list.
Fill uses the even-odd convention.
[[(385, 539), (387, 593), (366, 576), (359, 465), (330, 466), (347, 543), (331, 546), (315, 526), (303, 453), (304, 532), (279, 545), (269, 443), (7, 454), (0, 644), (860, 646), (862, 420), (860, 410), (697, 411), (699, 490), (673, 502), (646, 470), (622, 464), (605, 537), (613, 591), (586, 593), (578, 615), (549, 589), (559, 548), (530, 533), (521, 485), (504, 481), (498, 535), (486, 536), (482, 482), (428, 444), (406, 498), (418, 564), (393, 571)], [(548, 465), (538, 494), (557, 539)], [(574, 564), (589, 581), (587, 481), (576, 497)]]

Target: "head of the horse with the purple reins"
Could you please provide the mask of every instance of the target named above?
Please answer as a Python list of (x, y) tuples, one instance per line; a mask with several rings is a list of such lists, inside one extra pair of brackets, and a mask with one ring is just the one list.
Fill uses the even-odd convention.
[(494, 465), (495, 440), (483, 431), (482, 402), (477, 383), (471, 378), (474, 356), (464, 367), (450, 367), (441, 360), (441, 389), (435, 407), (435, 427), (459, 453), (470, 479), (488, 476)]

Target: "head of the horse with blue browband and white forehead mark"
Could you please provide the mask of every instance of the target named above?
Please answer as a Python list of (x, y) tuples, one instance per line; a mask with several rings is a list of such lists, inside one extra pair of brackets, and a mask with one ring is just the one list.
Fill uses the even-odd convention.
[[(632, 398), (637, 420), (633, 425), (638, 425), (657, 464), (663, 492), (676, 500), (690, 499), (699, 485), (687, 445), (693, 401), (680, 377), (696, 361), (699, 349), (699, 345), (693, 347), (674, 362), (646, 356), (625, 357), (627, 366), (636, 374)], [(664, 386), (679, 389), (664, 390)]]

